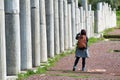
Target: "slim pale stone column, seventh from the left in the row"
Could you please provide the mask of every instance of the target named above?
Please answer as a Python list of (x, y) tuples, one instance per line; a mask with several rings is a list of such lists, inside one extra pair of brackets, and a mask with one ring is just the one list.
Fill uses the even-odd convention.
[(54, 45), (55, 54), (60, 53), (58, 0), (54, 0)]

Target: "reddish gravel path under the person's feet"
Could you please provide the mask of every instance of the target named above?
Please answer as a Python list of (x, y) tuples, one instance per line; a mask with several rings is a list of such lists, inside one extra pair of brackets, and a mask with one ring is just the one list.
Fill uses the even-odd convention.
[[(112, 34), (120, 35), (120, 29)], [(90, 58), (82, 72), (81, 59), (77, 70), (72, 71), (74, 54), (61, 58), (46, 74), (33, 75), (26, 80), (120, 80), (120, 41), (100, 41), (89, 46)]]

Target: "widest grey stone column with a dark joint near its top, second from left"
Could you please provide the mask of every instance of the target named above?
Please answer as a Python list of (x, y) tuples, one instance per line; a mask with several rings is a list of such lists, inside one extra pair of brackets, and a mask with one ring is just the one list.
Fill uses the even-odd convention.
[(7, 74), (20, 72), (19, 0), (5, 0)]

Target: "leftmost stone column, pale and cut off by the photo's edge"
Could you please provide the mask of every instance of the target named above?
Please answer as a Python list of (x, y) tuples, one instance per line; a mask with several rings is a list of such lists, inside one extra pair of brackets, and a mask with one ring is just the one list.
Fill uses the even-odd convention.
[(6, 80), (6, 46), (4, 0), (0, 2), (0, 78)]

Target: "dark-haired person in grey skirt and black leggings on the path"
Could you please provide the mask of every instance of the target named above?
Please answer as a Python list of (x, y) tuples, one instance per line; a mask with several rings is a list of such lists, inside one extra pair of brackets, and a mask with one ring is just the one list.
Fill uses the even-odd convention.
[(85, 36), (85, 38), (86, 38), (85, 39), (86, 41), (84, 41), (85, 42), (85, 47), (80, 48), (80, 47), (78, 47), (79, 44), (77, 43), (76, 52), (75, 52), (76, 59), (74, 61), (74, 65), (73, 65), (73, 71), (76, 70), (76, 66), (77, 66), (80, 58), (82, 58), (82, 71), (85, 71), (86, 58), (89, 57), (88, 44), (87, 44), (88, 43), (88, 37), (86, 36), (86, 31), (84, 29), (82, 29), (81, 32), (76, 35), (76, 40), (79, 40), (80, 36)]

